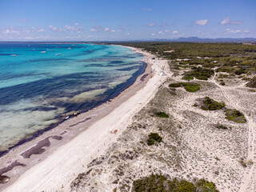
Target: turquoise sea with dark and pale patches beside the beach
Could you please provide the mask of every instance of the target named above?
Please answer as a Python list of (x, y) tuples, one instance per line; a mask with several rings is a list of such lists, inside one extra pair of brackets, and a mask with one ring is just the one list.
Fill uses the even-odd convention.
[(120, 94), (146, 64), (122, 46), (0, 44), (1, 151)]

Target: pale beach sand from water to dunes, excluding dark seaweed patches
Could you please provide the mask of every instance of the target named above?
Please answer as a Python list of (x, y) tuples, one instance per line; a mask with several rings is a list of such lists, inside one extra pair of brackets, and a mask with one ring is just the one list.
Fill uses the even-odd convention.
[[(133, 115), (141, 110), (143, 106), (146, 106), (147, 102), (154, 97), (158, 86), (166, 81), (167, 76), (160, 75), (162, 67), (167, 67), (166, 61), (151, 60), (151, 57), (152, 55), (147, 55), (145, 58), (145, 62), (150, 64), (152, 70), (154, 70), (154, 73), (151, 73), (150, 66), (146, 68), (144, 74), (148, 74), (148, 80), (142, 82), (139, 80), (141, 77), (138, 77), (133, 86), (123, 91), (112, 102), (105, 103), (99, 106), (98, 109), (95, 109), (98, 113), (95, 114), (93, 110), (90, 113), (81, 114), (62, 123), (57, 129), (55, 128), (56, 130), (62, 130), (63, 137), (65, 138), (65, 130), (70, 130), (72, 125), (76, 124), (72, 126), (72, 130), (83, 130), (84, 127), (89, 126), (88, 129), (83, 130), (82, 133), (78, 134), (71, 141), (63, 139), (64, 145), (58, 144), (56, 139), (49, 138), (52, 146), (55, 145), (55, 147), (44, 154), (40, 154), (41, 156), (43, 155), (43, 160), (37, 154), (32, 154), (29, 159), (23, 159), (21, 154), (24, 152), (24, 149), (22, 147), (15, 149), (16, 151), (13, 153), (18, 154), (14, 157), (18, 158), (19, 162), (24, 164), (31, 164), (32, 162), (32, 164), (28, 170), (23, 170), (24, 173), (20, 176), (15, 175), (15, 173), (19, 174), (21, 172), (19, 171), (21, 166), (14, 167), (10, 173), (8, 172), (6, 175), (10, 177), (10, 183), (6, 185), (7, 187), (3, 191), (69, 191), (70, 182), (79, 173), (85, 171), (86, 165), (93, 158), (102, 154), (110, 146), (110, 143), (116, 140), (118, 134), (122, 134), (126, 126), (132, 122)], [(118, 107), (115, 107), (116, 105)], [(105, 115), (104, 111), (105, 113), (110, 111), (110, 113)], [(100, 118), (101, 113), (103, 118)], [(94, 121), (84, 121), (88, 117), (94, 118)], [(92, 124), (92, 122), (94, 123)], [(52, 133), (45, 135), (55, 134), (54, 130)], [(117, 135), (110, 134), (113, 130), (118, 130)], [(34, 141), (34, 145), (36, 142), (38, 140)], [(47, 147), (43, 147), (43, 149), (47, 149)], [(6, 159), (13, 155), (11, 152), (6, 155)], [(22, 169), (27, 168), (22, 167)], [(18, 179), (16, 180), (15, 177)]]

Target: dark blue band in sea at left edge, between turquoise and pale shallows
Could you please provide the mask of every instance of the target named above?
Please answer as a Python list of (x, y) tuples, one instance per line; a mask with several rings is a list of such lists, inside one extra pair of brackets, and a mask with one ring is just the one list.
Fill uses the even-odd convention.
[(43, 98), (61, 97), (63, 90), (72, 89), (74, 86), (78, 86), (86, 82), (101, 81), (101, 77), (98, 75), (100, 74), (66, 74), (35, 82), (27, 82), (21, 85), (4, 87), (0, 89), (0, 105), (10, 104), (11, 102), (17, 102), (26, 98), (36, 98), (38, 96), (43, 96)]

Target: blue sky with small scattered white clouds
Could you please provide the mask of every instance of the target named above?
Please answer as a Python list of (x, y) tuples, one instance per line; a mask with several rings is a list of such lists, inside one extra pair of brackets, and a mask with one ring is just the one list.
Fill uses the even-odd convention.
[(256, 0), (0, 0), (0, 41), (256, 38)]

